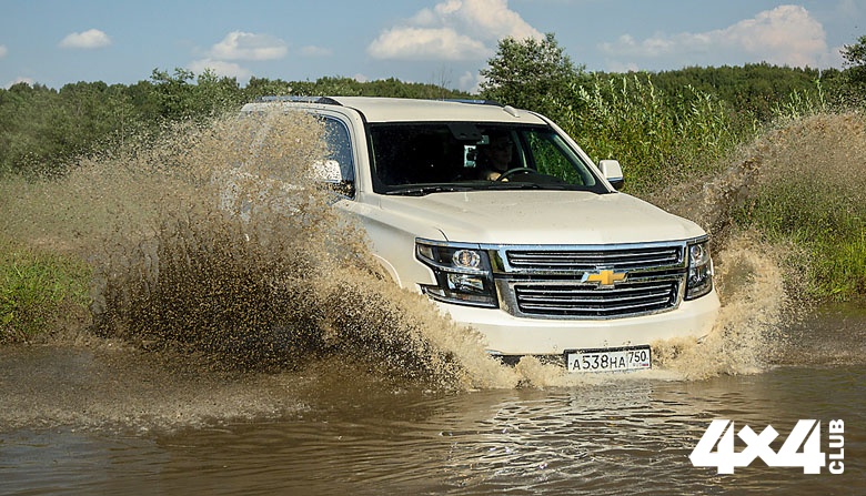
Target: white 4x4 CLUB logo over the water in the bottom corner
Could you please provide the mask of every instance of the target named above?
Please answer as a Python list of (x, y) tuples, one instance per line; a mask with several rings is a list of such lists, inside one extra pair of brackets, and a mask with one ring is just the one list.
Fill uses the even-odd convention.
[(829, 421), (827, 426), (828, 447), (833, 449), (829, 465), (820, 451), (820, 422), (812, 419), (798, 421), (778, 452), (771, 446), (778, 436), (773, 426), (766, 426), (761, 434), (755, 434), (747, 425), (741, 428), (736, 435), (746, 446), (735, 452), (734, 423), (716, 419), (709, 424), (688, 458), (696, 467), (716, 467), (718, 474), (733, 474), (735, 467), (747, 467), (755, 458), (763, 459), (768, 467), (802, 467), (804, 474), (820, 474), (824, 466), (830, 474), (842, 474), (845, 472), (845, 423)]

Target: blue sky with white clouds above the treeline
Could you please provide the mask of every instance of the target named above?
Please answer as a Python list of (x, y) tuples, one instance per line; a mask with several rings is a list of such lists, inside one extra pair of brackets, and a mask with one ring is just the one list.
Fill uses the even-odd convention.
[(130, 84), (153, 69), (397, 78), (472, 91), (504, 37), (554, 33), (590, 71), (842, 68), (866, 0), (0, 0), (0, 87)]

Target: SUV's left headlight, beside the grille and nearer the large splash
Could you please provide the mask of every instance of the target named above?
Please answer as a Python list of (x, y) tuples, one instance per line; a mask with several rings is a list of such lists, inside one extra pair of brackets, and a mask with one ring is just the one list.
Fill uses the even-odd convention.
[(497, 306), (490, 257), (480, 246), (419, 240), (415, 256), (436, 277), (436, 284), (421, 285), (430, 297), (461, 305)]

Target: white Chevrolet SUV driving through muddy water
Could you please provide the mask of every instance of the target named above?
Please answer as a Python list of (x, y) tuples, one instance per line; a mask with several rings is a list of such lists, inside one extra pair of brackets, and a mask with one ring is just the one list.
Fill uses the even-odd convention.
[[(618, 162), (596, 166), (545, 117), (360, 97), (265, 98), (242, 112), (274, 108), (324, 121), (335, 205), (396, 284), (480, 331), (490, 353), (640, 370), (654, 341), (713, 327), (706, 233), (617, 192)], [(510, 148), (507, 163), (486, 162), (494, 148)]]

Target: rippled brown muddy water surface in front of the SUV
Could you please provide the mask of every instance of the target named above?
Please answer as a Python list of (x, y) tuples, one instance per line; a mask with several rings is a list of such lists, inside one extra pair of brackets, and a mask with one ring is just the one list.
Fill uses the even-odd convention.
[[(0, 494), (866, 494), (866, 312), (792, 326), (764, 372), (442, 392), (330, 360), (184, 370), (130, 350), (0, 355)], [(688, 458), (709, 422), (843, 419), (844, 473)], [(739, 428), (739, 427), (737, 427)], [(737, 451), (742, 447), (737, 447)]]

